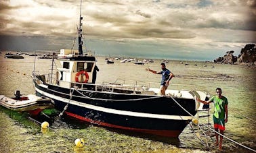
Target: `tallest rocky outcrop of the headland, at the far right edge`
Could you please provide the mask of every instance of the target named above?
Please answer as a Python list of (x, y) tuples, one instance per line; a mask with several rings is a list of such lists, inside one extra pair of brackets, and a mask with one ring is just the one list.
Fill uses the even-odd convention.
[(238, 55), (238, 63), (250, 63), (253, 64), (256, 61), (256, 48), (255, 44), (247, 44), (243, 49), (241, 49)]

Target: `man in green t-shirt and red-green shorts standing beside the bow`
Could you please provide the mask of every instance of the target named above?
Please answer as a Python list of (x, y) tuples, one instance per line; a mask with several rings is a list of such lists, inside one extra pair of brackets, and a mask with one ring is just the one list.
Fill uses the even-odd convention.
[[(216, 96), (213, 96), (210, 100), (204, 101), (196, 98), (198, 102), (202, 102), (204, 104), (209, 104), (214, 102), (214, 113), (213, 113), (213, 123), (215, 131), (224, 134), (225, 123), (228, 122), (228, 99), (225, 96), (221, 95), (221, 88), (216, 89)], [(226, 116), (226, 117), (225, 117)], [(219, 145), (219, 150), (222, 149), (222, 140), (223, 136), (219, 136), (218, 133), (215, 133), (216, 143), (215, 145)], [(220, 140), (219, 140), (220, 138)]]

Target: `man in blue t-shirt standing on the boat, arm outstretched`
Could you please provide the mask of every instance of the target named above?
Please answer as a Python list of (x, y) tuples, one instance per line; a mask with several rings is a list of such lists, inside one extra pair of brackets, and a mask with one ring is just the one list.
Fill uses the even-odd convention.
[(165, 63), (161, 63), (161, 69), (162, 69), (162, 71), (154, 71), (150, 68), (148, 68), (146, 70), (151, 71), (152, 73), (155, 73), (155, 74), (162, 74), (160, 90), (161, 90), (161, 95), (164, 96), (165, 90), (167, 90), (167, 88), (169, 86), (169, 82), (170, 82), (171, 78), (173, 78), (173, 73), (171, 73), (171, 71), (169, 71), (169, 69), (167, 69), (165, 67)]

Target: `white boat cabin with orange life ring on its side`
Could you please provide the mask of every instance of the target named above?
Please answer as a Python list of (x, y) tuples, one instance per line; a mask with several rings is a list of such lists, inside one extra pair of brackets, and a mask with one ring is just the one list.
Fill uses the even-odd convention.
[(56, 61), (56, 85), (63, 88), (93, 83), (95, 57), (79, 56), (76, 50), (61, 49)]

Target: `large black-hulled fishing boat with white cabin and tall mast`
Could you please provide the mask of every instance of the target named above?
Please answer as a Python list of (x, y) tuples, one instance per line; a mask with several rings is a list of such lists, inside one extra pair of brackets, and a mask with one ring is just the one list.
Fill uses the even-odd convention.
[(161, 96), (158, 88), (150, 86), (118, 82), (93, 84), (97, 61), (88, 52), (83, 54), (82, 20), (80, 9), (79, 50), (61, 49), (58, 56), (61, 58), (53, 59), (52, 65), (57, 67), (51, 67), (47, 79), (46, 75), (33, 71), (37, 96), (51, 98), (60, 116), (65, 113), (104, 127), (178, 137), (201, 105), (195, 95), (207, 100), (207, 94), (167, 90), (167, 95)]

